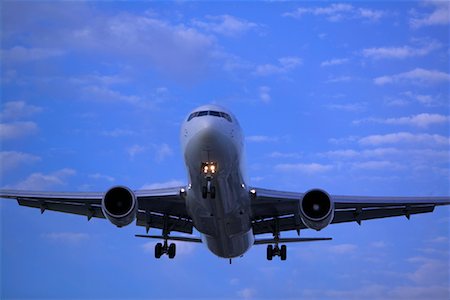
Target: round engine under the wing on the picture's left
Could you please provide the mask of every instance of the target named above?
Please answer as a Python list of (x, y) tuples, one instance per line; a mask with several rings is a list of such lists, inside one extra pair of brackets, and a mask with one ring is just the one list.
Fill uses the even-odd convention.
[(136, 196), (127, 187), (112, 187), (103, 196), (103, 214), (117, 227), (126, 226), (133, 222), (136, 219), (137, 209)]

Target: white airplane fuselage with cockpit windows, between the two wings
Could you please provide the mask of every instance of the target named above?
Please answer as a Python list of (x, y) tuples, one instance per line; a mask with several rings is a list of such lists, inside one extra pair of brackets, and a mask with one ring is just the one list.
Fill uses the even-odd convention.
[[(214, 254), (242, 255), (254, 236), (238, 121), (222, 107), (201, 106), (183, 123), (181, 145), (189, 181), (186, 206), (195, 228)], [(214, 173), (206, 172), (205, 164), (214, 164)]]

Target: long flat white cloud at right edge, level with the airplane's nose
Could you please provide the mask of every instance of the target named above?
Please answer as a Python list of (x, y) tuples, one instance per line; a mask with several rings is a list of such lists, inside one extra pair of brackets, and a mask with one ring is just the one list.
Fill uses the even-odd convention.
[(438, 134), (413, 134), (410, 132), (397, 132), (384, 135), (370, 135), (359, 139), (361, 145), (378, 146), (383, 144), (426, 144), (448, 145), (450, 138)]

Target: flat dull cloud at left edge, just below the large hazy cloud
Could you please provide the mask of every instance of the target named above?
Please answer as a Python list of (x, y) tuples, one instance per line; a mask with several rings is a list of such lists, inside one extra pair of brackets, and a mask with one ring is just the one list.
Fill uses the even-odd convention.
[(45, 48), (25, 48), (15, 46), (11, 49), (1, 50), (3, 63), (27, 63), (64, 55), (64, 51)]

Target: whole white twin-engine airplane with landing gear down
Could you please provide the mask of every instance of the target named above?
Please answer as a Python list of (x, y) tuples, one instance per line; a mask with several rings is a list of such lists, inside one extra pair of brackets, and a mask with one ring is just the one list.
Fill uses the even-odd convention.
[[(204, 243), (221, 258), (243, 256), (253, 245), (267, 245), (267, 260), (286, 260), (286, 243), (325, 241), (300, 237), (300, 231), (320, 231), (330, 224), (432, 212), (450, 204), (450, 197), (369, 197), (330, 195), (322, 189), (304, 193), (277, 191), (247, 185), (244, 136), (236, 117), (224, 107), (194, 109), (181, 126), (180, 140), (188, 184), (171, 188), (133, 191), (113, 186), (106, 192), (34, 192), (1, 190), (0, 198), (19, 205), (84, 215), (88, 221), (103, 218), (117, 227), (135, 221), (147, 234), (160, 239), (155, 257), (175, 257), (176, 244)], [(149, 229), (161, 235), (149, 235)], [(193, 236), (193, 229), (200, 238)], [(299, 237), (283, 238), (295, 230)], [(176, 236), (172, 232), (180, 233)], [(272, 238), (256, 236), (271, 234)]]

